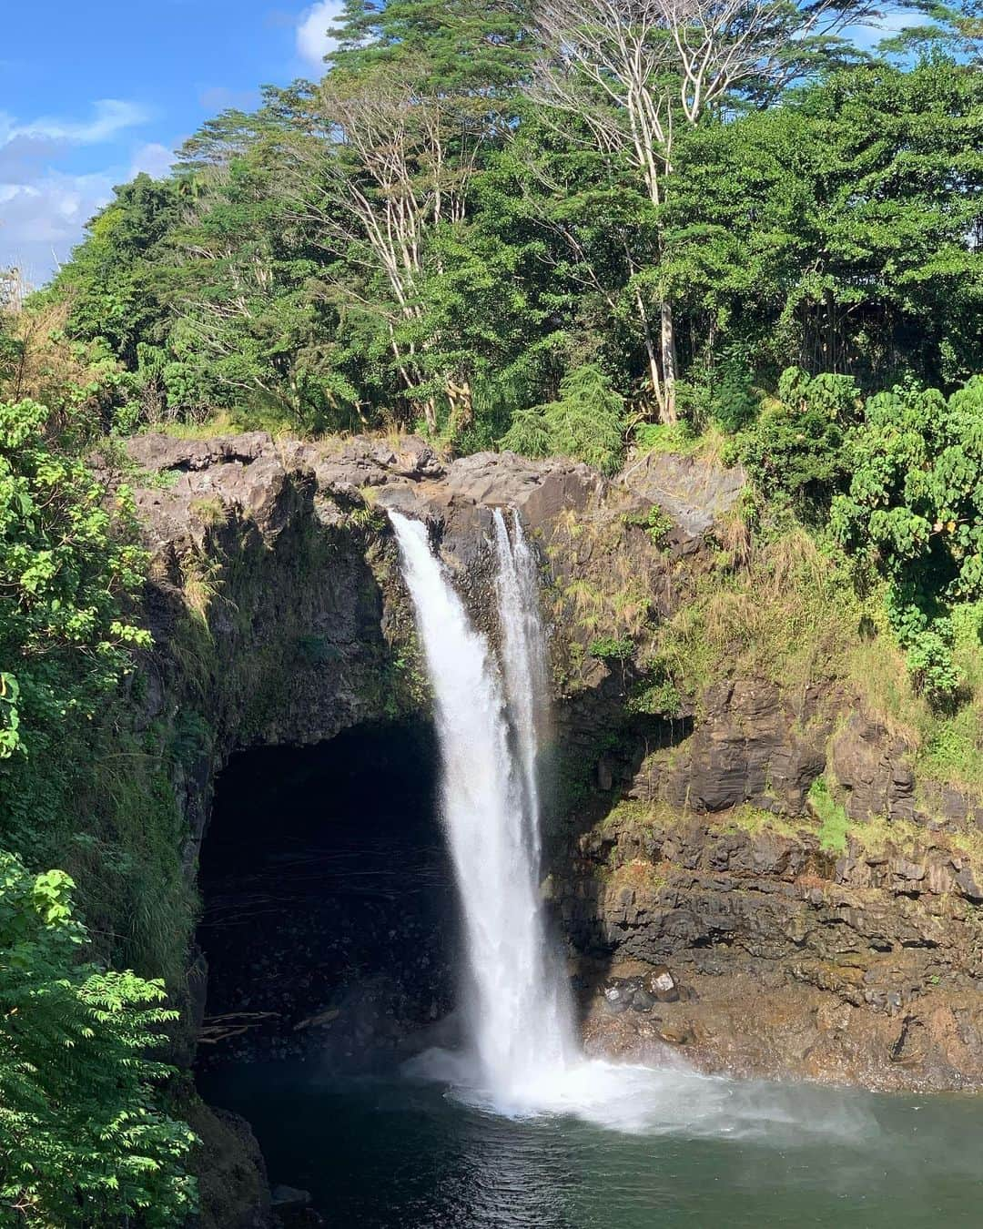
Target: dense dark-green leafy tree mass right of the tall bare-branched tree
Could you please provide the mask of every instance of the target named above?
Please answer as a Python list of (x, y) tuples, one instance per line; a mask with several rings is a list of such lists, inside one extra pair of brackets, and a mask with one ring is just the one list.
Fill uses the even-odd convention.
[(865, 388), (981, 370), (982, 101), (936, 55), (683, 132), (664, 259), (711, 386), (731, 364), (762, 387), (793, 364)]

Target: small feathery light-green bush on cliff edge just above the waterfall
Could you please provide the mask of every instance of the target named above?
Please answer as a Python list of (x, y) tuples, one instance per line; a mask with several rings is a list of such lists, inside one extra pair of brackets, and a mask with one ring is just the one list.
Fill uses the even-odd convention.
[(613, 473), (624, 455), (624, 398), (593, 363), (560, 381), (559, 401), (517, 415), (501, 446), (527, 456), (560, 454)]

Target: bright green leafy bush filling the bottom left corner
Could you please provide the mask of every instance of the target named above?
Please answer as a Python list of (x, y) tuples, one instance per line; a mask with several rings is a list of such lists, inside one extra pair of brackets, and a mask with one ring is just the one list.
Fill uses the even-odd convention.
[(155, 1109), (172, 1073), (144, 1057), (177, 1013), (161, 982), (85, 961), (72, 886), (0, 852), (0, 1220), (179, 1225), (194, 1136)]

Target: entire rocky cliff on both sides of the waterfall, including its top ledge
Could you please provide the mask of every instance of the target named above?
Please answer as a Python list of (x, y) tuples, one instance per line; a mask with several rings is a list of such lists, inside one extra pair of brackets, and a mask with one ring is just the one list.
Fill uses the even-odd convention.
[[(983, 1084), (979, 799), (919, 774), (904, 731), (821, 662), (781, 678), (735, 653), (676, 694), (651, 650), (721, 557), (743, 567), (740, 471), (652, 455), (608, 481), (510, 454), (446, 462), (413, 438), (128, 449), (154, 556), (139, 721), (184, 748), (189, 878), (233, 750), (426, 712), (386, 510), (429, 524), (494, 634), (488, 532), (515, 508), (550, 626), (544, 890), (590, 1043), (879, 1088)], [(203, 977), (192, 960), (192, 1025)], [(258, 1188), (214, 1223), (263, 1223)]]

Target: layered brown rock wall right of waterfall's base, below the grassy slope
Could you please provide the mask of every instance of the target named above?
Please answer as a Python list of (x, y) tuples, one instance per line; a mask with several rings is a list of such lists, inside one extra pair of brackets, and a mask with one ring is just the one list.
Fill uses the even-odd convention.
[[(714, 686), (693, 734), (571, 833), (552, 890), (586, 954), (591, 1046), (879, 1089), (983, 1085), (979, 800), (920, 789), (913, 748), (854, 704)], [(806, 796), (820, 774), (854, 821), (843, 848)], [(639, 1007), (622, 988), (652, 967), (681, 993)]]

